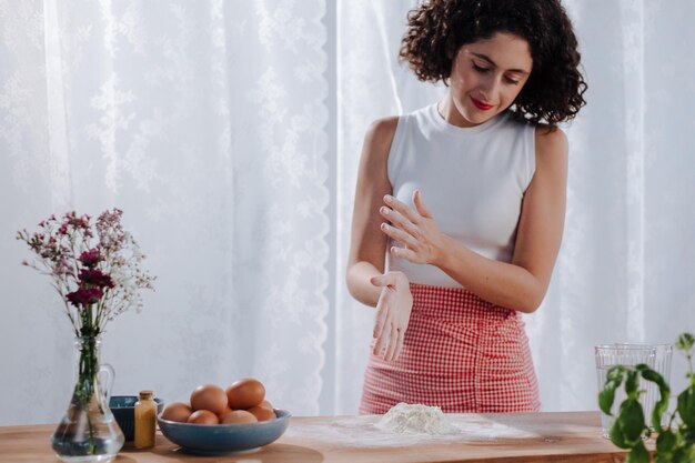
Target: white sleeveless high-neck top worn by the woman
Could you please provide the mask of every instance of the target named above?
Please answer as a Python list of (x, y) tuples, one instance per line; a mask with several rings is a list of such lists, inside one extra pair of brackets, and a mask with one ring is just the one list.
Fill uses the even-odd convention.
[[(511, 262), (535, 172), (534, 132), (533, 124), (506, 112), (472, 128), (450, 124), (436, 104), (401, 115), (387, 161), (393, 195), (414, 208), (413, 191), (420, 189), (441, 232), (485, 258)], [(461, 288), (434, 265), (391, 253), (386, 268), (404, 272), (411, 283)]]

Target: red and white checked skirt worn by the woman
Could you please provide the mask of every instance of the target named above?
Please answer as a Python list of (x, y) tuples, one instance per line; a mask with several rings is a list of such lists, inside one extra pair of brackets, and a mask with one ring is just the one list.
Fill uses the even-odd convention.
[(516, 311), (471, 291), (411, 284), (413, 311), (397, 360), (371, 355), (360, 414), (399, 402), (446, 413), (536, 412), (538, 386)]

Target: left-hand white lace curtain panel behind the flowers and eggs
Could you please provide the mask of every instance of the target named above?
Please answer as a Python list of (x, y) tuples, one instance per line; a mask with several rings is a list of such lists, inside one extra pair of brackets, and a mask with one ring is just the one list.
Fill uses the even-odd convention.
[(319, 412), (329, 310), (323, 0), (0, 1), (0, 424), (57, 422), (68, 318), (14, 241), (118, 207), (157, 292), (108, 326), (114, 394), (262, 380)]

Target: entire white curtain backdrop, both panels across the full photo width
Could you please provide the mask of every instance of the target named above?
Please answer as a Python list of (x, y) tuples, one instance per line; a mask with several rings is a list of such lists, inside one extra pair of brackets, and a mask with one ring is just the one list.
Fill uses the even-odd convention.
[[(362, 138), (445, 88), (397, 62), (416, 0), (0, 0), (0, 425), (57, 422), (72, 338), (14, 240), (119, 207), (158, 275), (108, 326), (114, 394), (261, 379), (354, 414), (372, 309), (344, 286)], [(596, 410), (593, 345), (695, 330), (695, 2), (565, 0), (588, 105), (563, 248), (526, 316), (543, 409)], [(673, 383), (685, 371), (674, 356)]]

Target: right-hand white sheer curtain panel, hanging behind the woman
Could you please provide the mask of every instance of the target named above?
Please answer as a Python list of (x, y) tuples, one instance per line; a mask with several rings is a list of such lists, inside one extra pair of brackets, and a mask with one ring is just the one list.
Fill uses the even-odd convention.
[[(369, 123), (425, 105), (444, 91), (417, 83), (395, 61), (405, 12), (416, 3), (339, 3), (342, 259)], [(695, 330), (695, 3), (564, 4), (575, 22), (590, 91), (588, 105), (563, 127), (571, 145), (563, 248), (543, 305), (525, 318), (546, 411), (597, 410), (596, 343), (673, 342)], [(343, 368), (336, 409), (354, 413), (373, 311), (339, 289)], [(674, 354), (674, 389), (682, 389), (684, 372)]]

